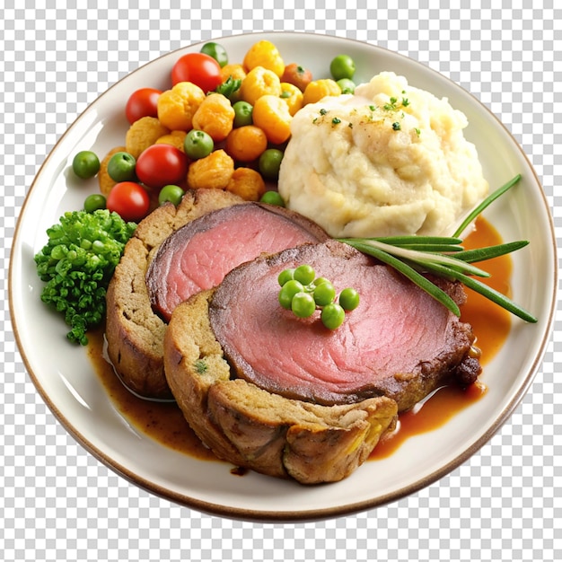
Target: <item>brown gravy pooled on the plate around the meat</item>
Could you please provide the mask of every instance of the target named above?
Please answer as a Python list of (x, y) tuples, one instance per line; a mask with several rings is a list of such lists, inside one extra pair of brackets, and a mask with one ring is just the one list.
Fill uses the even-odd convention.
[[(464, 241), (464, 246), (470, 249), (498, 243), (501, 243), (501, 238), (494, 227), (479, 218), (477, 230)], [(483, 268), (492, 274), (486, 282), (502, 293), (509, 294), (512, 269), (509, 256), (487, 260)], [(511, 319), (509, 312), (489, 303), (479, 294), (469, 289), (467, 293), (468, 300), (462, 307), (461, 318), (472, 325), (477, 335), (477, 346), (482, 352), (480, 361), (485, 366), (503, 346), (509, 333)], [(206, 449), (190, 429), (180, 408), (174, 402), (143, 400), (127, 390), (106, 359), (101, 329), (92, 332), (89, 336), (88, 354), (95, 371), (100, 376), (111, 400), (130, 423), (145, 435), (171, 449), (188, 453), (201, 460), (216, 460), (215, 455)], [(485, 393), (486, 388), (481, 383), (473, 384), (468, 389), (443, 386), (420, 402), (416, 408), (400, 414), (396, 430), (375, 447), (371, 459), (376, 460), (391, 455), (411, 435), (443, 426), (448, 419), (470, 406), (475, 400), (479, 400)]]

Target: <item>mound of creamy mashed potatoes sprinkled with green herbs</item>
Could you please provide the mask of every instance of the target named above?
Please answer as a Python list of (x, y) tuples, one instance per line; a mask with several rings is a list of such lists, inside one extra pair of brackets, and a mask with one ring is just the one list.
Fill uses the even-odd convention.
[(294, 116), (279, 193), (334, 237), (451, 235), (488, 189), (467, 125), (446, 99), (376, 75)]

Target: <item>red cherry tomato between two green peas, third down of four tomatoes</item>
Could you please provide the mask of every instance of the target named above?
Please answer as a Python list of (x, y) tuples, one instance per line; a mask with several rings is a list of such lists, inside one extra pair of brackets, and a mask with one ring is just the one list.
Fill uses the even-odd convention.
[(136, 177), (153, 189), (181, 183), (188, 174), (188, 157), (172, 145), (150, 145), (136, 159)]

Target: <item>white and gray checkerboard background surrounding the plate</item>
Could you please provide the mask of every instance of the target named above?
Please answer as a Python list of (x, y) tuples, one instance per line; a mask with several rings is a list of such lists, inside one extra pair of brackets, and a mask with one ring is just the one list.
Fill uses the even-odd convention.
[(110, 84), (164, 52), (250, 31), (316, 31), (364, 40), (416, 58), (460, 83), (505, 123), (528, 154), (549, 199), (559, 242), (559, 4), (272, 0), (264, 3), (271, 8), (261, 8), (241, 0), (146, 0), (140, 4), (149, 7), (142, 9), (107, 0), (84, 0), (79, 9), (62, 4), (5, 0), (0, 8), (0, 558), (562, 559), (562, 384), (555, 377), (562, 372), (560, 311), (544, 363), (522, 404), (457, 470), (365, 513), (260, 524), (200, 514), (152, 496), (75, 443), (25, 373), (14, 344), (6, 275), (26, 189), (75, 117)]

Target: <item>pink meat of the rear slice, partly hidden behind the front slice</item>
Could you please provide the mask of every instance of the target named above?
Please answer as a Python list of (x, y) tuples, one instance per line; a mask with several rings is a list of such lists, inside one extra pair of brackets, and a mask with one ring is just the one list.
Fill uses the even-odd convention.
[(328, 238), (318, 224), (279, 206), (247, 203), (203, 215), (172, 233), (151, 261), (145, 279), (153, 310), (170, 321), (179, 303), (241, 263)]

